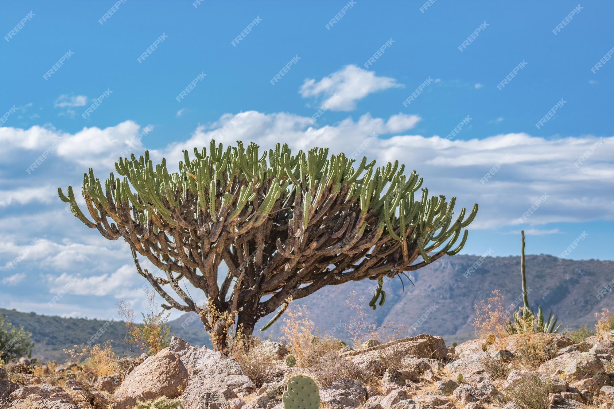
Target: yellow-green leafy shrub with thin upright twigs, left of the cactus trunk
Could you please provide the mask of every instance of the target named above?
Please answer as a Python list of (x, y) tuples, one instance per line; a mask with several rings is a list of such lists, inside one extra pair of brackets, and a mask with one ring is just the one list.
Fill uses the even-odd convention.
[(147, 355), (155, 355), (169, 344), (169, 333), (171, 327), (168, 325), (168, 317), (170, 313), (165, 314), (160, 311), (155, 303), (155, 294), (149, 290), (144, 290), (147, 297), (147, 314), (142, 315), (143, 323), (134, 323), (134, 310), (130, 307), (130, 303), (119, 302), (119, 315), (126, 324), (127, 334), (122, 338), (134, 354), (134, 347), (138, 348), (141, 353)]

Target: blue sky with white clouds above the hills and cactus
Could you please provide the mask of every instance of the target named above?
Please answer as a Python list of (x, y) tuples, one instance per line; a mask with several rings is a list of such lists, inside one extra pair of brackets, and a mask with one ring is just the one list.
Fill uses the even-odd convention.
[[(90, 166), (104, 174), (122, 151), (150, 149), (177, 162), (181, 149), (206, 145), (214, 135), (224, 143), (281, 141), (346, 154), (368, 141), (364, 155), (400, 160), (425, 177), (431, 192), (456, 195), (462, 206), (480, 203), (467, 254), (518, 254), (524, 228), (529, 253), (561, 255), (586, 233), (565, 257), (611, 260), (614, 62), (591, 68), (614, 45), (612, 2), (578, 8), (570, 1), (438, 0), (422, 12), (424, 3), (203, 1), (195, 7), (127, 0), (103, 24), (113, 1), (4, 4), (0, 116), (9, 115), (0, 124), (6, 242), (0, 307), (111, 317), (115, 300), (139, 298), (142, 283), (125, 244), (103, 254), (104, 239), (64, 211), (55, 189), (80, 185)], [(404, 106), (425, 81), (424, 92)], [(309, 122), (332, 96), (328, 110)], [(47, 300), (71, 279), (78, 284), (50, 307)], [(88, 306), (91, 297), (104, 308)]]

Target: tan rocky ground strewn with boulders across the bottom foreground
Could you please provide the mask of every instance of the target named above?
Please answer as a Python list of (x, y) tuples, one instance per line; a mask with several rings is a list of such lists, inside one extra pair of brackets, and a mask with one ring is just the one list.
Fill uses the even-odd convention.
[(422, 334), (346, 347), (307, 368), (284, 364), (284, 346), (272, 341), (258, 353), (272, 362), (260, 385), (235, 359), (176, 337), (154, 356), (122, 359), (122, 373), (89, 380), (71, 375), (77, 367), (29, 371), (22, 359), (0, 368), (0, 409), (128, 409), (161, 396), (179, 397), (186, 409), (281, 409), (295, 373), (313, 376), (322, 407), (333, 409), (614, 407), (614, 332), (576, 345), (562, 335), (532, 334), (456, 348)]

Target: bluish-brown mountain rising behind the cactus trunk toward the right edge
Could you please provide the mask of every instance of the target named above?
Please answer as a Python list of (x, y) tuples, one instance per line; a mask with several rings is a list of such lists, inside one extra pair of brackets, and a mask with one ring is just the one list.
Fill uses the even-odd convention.
[[(467, 273), (473, 265), (475, 271)], [(614, 313), (614, 294), (597, 299), (600, 290), (614, 279), (614, 262), (600, 260), (559, 260), (551, 255), (527, 255), (527, 287), (529, 302), (537, 311), (541, 305), (546, 314), (553, 310), (558, 314), (561, 330), (577, 330), (580, 324), (592, 325), (594, 313), (602, 308)], [(467, 276), (465, 276), (465, 274)], [(320, 332), (335, 333), (342, 340), (349, 340), (346, 330), (354, 314), (346, 300), (356, 292), (356, 300), (363, 296), (368, 321), (379, 325), (394, 322), (391, 327), (405, 327), (405, 335), (430, 333), (440, 335), (446, 342), (462, 342), (474, 337), (471, 322), (475, 318), (473, 306), (498, 289), (505, 296), (504, 306), (514, 300), (522, 304), (520, 257), (478, 257), (454, 255), (441, 259), (408, 273), (405, 288), (397, 278), (384, 283), (386, 303), (371, 310), (367, 303), (375, 290), (376, 281), (347, 282), (340, 286), (328, 286), (309, 297), (295, 300), (293, 305), (306, 305), (309, 318)], [(612, 286), (614, 287), (614, 285)], [(272, 317), (258, 322), (263, 325)], [(187, 313), (175, 320), (175, 324), (190, 322), (187, 328), (202, 330), (196, 314)], [(421, 320), (421, 317), (425, 316)], [(281, 335), (279, 327), (283, 316), (265, 333), (256, 331), (261, 338), (276, 339)], [(416, 325), (418, 324), (418, 325)], [(184, 324), (184, 326), (186, 326)], [(416, 327), (415, 330), (409, 330)], [(204, 334), (204, 332), (203, 332)], [(202, 336), (202, 335), (201, 335)]]

